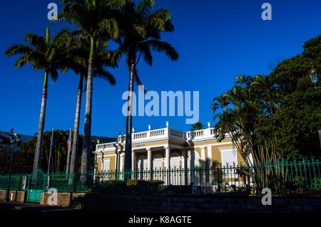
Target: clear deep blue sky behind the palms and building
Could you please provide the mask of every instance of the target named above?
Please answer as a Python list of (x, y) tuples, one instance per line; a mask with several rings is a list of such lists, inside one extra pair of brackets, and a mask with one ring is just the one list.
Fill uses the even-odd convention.
[[(5, 1), (0, 8), (0, 130), (33, 135), (38, 131), (44, 72), (29, 65), (14, 68), (17, 57), (7, 58), (7, 46), (20, 43), (31, 31), (45, 36), (47, 5), (58, 0)], [(261, 5), (272, 5), (272, 21), (263, 21)], [(268, 63), (302, 52), (302, 45), (320, 34), (321, 1), (319, 0), (156, 0), (156, 8), (172, 13), (174, 33), (164, 33), (163, 41), (171, 43), (180, 58), (171, 62), (154, 53), (153, 67), (140, 61), (138, 71), (147, 90), (199, 91), (200, 122), (213, 121), (210, 105), (213, 97), (233, 86), (235, 75), (268, 74)], [(61, 4), (58, 4), (58, 11)], [(51, 36), (63, 23), (51, 23)], [(104, 80), (93, 80), (93, 114), (91, 134), (115, 137), (124, 133), (126, 117), (121, 99), (128, 89), (128, 70), (124, 60), (111, 70), (116, 86)], [(72, 72), (59, 75), (56, 83), (49, 82), (45, 131), (52, 127), (73, 129), (78, 77)], [(135, 88), (137, 92), (137, 87)], [(86, 95), (83, 95), (80, 133)], [(170, 127), (188, 131), (183, 117), (134, 117), (136, 131)]]

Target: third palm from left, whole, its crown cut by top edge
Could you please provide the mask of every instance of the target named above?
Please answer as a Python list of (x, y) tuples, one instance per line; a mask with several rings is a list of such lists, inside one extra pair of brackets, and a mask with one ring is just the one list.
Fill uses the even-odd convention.
[(93, 90), (93, 60), (96, 57), (95, 47), (101, 38), (118, 38), (118, 22), (116, 16), (126, 0), (61, 0), (65, 5), (59, 21), (76, 25), (79, 36), (91, 41), (88, 60), (88, 75), (86, 85), (86, 113), (83, 133), (83, 152), (81, 171), (88, 171), (91, 155), (91, 110)]

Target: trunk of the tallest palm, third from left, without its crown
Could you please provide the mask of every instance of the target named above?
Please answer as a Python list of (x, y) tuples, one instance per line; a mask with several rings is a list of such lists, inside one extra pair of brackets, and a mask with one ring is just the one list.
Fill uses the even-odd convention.
[(93, 95), (93, 56), (94, 40), (91, 38), (91, 54), (88, 61), (88, 77), (86, 87), (86, 112), (85, 112), (85, 130), (83, 132), (83, 154), (81, 157), (81, 172), (89, 170), (89, 161), (91, 157), (91, 104)]

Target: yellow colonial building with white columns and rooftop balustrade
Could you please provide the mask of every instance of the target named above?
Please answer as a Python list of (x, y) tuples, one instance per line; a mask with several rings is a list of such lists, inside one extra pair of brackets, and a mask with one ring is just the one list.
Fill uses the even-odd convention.
[[(118, 135), (117, 142), (96, 145), (96, 171), (123, 171), (125, 158), (125, 135)], [(186, 178), (181, 176), (179, 169), (195, 167), (210, 169), (220, 165), (225, 167), (238, 166), (244, 164), (243, 159), (238, 154), (230, 138), (218, 142), (214, 137), (214, 128), (191, 132), (180, 132), (169, 127), (152, 130), (148, 125), (148, 131), (135, 132), (132, 134), (132, 168), (141, 171), (138, 179), (161, 179), (164, 180), (161, 169), (176, 169), (177, 174), (171, 173), (170, 184), (186, 184), (191, 181), (198, 181), (203, 184), (213, 182), (213, 176), (207, 174), (193, 174)], [(153, 174), (146, 174), (153, 169)], [(231, 169), (232, 170), (232, 169)], [(230, 170), (230, 172), (231, 172)], [(226, 169), (226, 171), (229, 171)], [(138, 174), (139, 175), (139, 174)], [(151, 175), (151, 176), (150, 176)], [(192, 179), (192, 178), (193, 179)], [(195, 179), (196, 177), (196, 179)], [(228, 176), (235, 179), (235, 174)], [(188, 182), (186, 182), (188, 181)]]

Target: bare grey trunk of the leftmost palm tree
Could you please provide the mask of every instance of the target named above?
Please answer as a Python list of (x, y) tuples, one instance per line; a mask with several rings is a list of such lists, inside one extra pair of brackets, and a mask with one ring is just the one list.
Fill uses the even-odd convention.
[(36, 151), (34, 152), (34, 171), (41, 166), (41, 150), (42, 141), (44, 139), (44, 123), (46, 116), (46, 102), (47, 102), (47, 88), (48, 88), (48, 73), (45, 71), (44, 88), (42, 90), (41, 110), (38, 125), (38, 137), (36, 142)]

